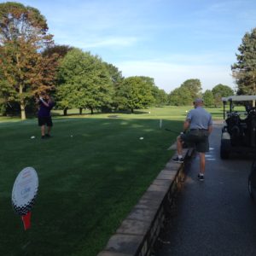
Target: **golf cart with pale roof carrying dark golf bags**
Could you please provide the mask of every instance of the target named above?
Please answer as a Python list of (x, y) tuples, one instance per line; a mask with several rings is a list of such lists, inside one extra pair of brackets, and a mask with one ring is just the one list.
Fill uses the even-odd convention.
[(256, 108), (253, 107), (255, 101), (256, 96), (222, 98), (224, 126), (220, 143), (221, 159), (228, 159), (232, 152), (256, 153)]

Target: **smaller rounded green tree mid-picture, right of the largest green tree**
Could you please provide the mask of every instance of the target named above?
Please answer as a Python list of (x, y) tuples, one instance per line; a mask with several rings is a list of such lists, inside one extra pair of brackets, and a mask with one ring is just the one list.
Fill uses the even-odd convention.
[(154, 102), (152, 94), (152, 80), (148, 77), (129, 77), (124, 79), (120, 86), (118, 96), (122, 99), (121, 108), (134, 109), (147, 108)]

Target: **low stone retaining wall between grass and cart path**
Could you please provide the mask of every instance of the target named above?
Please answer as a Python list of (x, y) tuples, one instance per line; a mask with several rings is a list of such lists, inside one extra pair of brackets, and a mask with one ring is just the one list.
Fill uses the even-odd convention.
[[(192, 148), (183, 149), (186, 161)], [(169, 162), (97, 256), (148, 256), (184, 180), (184, 164)], [(169, 210), (170, 212), (170, 210)]]

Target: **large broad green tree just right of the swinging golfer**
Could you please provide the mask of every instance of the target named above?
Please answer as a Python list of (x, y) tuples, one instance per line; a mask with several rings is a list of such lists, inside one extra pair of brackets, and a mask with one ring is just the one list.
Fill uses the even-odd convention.
[(111, 108), (113, 84), (102, 59), (81, 49), (72, 49), (59, 67), (58, 104), (68, 108)]

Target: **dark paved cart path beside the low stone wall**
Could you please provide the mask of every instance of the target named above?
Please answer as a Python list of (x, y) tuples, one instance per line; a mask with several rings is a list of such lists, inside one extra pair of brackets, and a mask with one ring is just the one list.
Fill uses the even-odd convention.
[(252, 158), (219, 158), (221, 126), (214, 125), (205, 181), (200, 182), (198, 156), (187, 178), (157, 256), (256, 255), (256, 203), (247, 192)]

